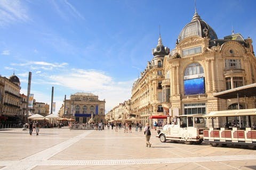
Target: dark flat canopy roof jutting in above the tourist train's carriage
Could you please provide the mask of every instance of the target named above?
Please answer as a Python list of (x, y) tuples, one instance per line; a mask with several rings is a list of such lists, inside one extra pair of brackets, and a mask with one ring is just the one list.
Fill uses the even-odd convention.
[(237, 97), (254, 97), (256, 96), (256, 83), (230, 89), (230, 90), (217, 92), (213, 96), (221, 99), (231, 99), (231, 98), (237, 98)]

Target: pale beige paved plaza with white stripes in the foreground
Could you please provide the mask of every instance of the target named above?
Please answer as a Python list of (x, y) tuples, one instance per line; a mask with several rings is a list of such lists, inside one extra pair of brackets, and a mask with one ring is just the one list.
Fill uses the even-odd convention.
[(256, 169), (256, 150), (161, 143), (123, 130), (0, 129), (0, 169)]

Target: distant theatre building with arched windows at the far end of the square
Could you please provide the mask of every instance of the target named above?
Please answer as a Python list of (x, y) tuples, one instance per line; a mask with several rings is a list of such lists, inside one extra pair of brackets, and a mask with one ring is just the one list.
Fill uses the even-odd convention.
[(77, 92), (64, 100), (59, 116), (74, 118), (78, 123), (88, 123), (93, 116), (94, 122), (105, 121), (105, 100), (91, 93)]

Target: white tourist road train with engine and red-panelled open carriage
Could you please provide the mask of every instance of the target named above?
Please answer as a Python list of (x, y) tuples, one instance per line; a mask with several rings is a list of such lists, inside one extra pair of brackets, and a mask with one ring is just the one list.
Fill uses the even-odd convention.
[(256, 149), (256, 108), (210, 112), (207, 115), (180, 115), (158, 130), (161, 142), (183, 141), (186, 144), (210, 143), (246, 145)]

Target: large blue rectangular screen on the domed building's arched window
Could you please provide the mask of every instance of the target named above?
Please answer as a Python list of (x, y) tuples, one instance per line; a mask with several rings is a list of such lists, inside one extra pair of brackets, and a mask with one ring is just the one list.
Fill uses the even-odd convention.
[(204, 78), (184, 80), (185, 95), (205, 94)]

